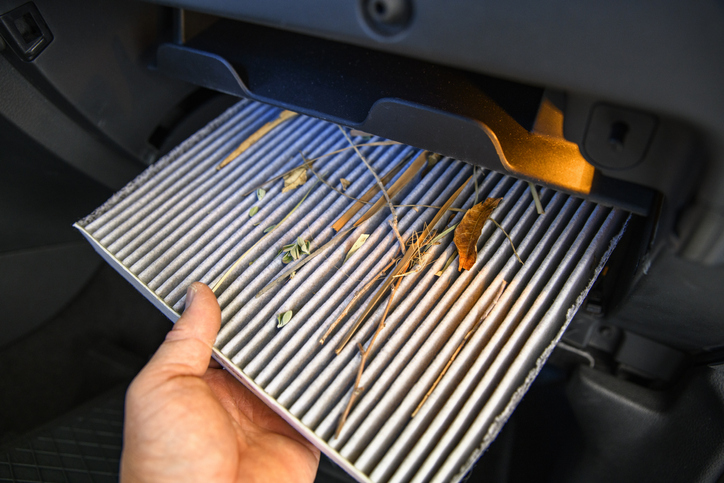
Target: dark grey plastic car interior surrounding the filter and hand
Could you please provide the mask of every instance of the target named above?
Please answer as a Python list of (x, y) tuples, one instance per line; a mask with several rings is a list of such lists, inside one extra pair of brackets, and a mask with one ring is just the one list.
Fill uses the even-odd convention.
[[(174, 306), (73, 224), (272, 106), (628, 217), (494, 441), (415, 481), (724, 482), (723, 86), (716, 0), (0, 0), (0, 481), (118, 479)], [(315, 481), (406, 481), (325, 441)]]

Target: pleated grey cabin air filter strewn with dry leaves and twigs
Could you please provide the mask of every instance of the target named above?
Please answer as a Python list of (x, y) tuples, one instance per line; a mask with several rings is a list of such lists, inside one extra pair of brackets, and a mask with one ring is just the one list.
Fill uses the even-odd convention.
[[(452, 231), (407, 268), (390, 268), (402, 255), (384, 201), (357, 227), (371, 204), (338, 235), (333, 228), (354, 198), (376, 186), (358, 154), (344, 149), (349, 144), (337, 126), (287, 119), (216, 169), (277, 116), (279, 109), (239, 102), (76, 226), (172, 320), (191, 282), (218, 284), (217, 360), (359, 481), (460, 480), (530, 386), (605, 265), (627, 214), (543, 189), (539, 215), (525, 182), (448, 158), (428, 163), (409, 146), (353, 137), (388, 178), (388, 191), (414, 175), (398, 183), (405, 187), (393, 200), (404, 240), (428, 227), (441, 234), (476, 199), (502, 198), (492, 218), (524, 262), (487, 222), (470, 270), (458, 271)], [(338, 150), (317, 160), (296, 189), (283, 192), (281, 179), (264, 184), (299, 166), (300, 152), (311, 159)], [(340, 179), (350, 182), (346, 191)], [(259, 199), (261, 184), (266, 194)], [(370, 203), (381, 198), (375, 192)], [(441, 213), (449, 200), (457, 210)], [(362, 234), (369, 238), (345, 261)], [(298, 239), (321, 255), (297, 249), (300, 258), (284, 264), (280, 250)], [(403, 269), (404, 276), (390, 279), (401, 282), (369, 349), (363, 390), (337, 437), (360, 365), (358, 343), (369, 343), (391, 291), (371, 302), (389, 285), (385, 278)], [(282, 282), (258, 296), (274, 280)], [(291, 319), (283, 318), (288, 311)]]

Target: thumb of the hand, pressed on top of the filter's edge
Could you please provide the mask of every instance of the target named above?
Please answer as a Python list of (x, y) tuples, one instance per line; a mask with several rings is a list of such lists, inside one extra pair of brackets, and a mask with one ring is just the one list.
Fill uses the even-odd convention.
[(148, 363), (168, 377), (202, 376), (209, 367), (221, 310), (214, 292), (201, 282), (186, 291), (186, 309)]

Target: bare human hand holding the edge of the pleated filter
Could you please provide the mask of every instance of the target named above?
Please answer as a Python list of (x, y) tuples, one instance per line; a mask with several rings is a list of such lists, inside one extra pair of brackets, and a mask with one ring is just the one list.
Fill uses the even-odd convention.
[(183, 315), (128, 388), (122, 482), (314, 480), (319, 450), (209, 365), (220, 325), (214, 293), (192, 284)]

